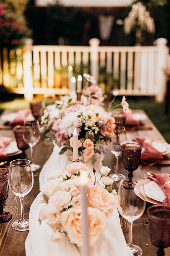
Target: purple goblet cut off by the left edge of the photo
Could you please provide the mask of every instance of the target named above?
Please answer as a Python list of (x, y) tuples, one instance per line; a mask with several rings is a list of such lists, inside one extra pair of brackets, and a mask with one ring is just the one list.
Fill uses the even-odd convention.
[(5, 222), (12, 218), (10, 212), (4, 212), (5, 200), (8, 197), (8, 176), (9, 170), (6, 168), (0, 168), (0, 222)]

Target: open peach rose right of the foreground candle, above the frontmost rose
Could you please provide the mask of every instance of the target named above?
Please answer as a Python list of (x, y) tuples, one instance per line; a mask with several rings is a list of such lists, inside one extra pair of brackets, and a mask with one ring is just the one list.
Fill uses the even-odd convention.
[(100, 209), (108, 218), (112, 216), (113, 209), (117, 207), (117, 200), (113, 194), (99, 184), (96, 184), (93, 188), (87, 188), (87, 193), (87, 199), (91, 206)]

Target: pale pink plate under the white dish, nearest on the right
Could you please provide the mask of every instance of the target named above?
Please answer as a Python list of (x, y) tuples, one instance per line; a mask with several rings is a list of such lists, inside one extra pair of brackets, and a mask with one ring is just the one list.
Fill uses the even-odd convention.
[[(148, 178), (146, 180), (143, 180), (143, 181), (139, 181), (137, 182), (137, 184), (135, 185), (135, 188), (134, 188), (134, 191), (135, 191), (135, 194), (137, 194), (138, 197), (140, 197), (141, 199), (145, 199), (147, 202), (149, 203), (152, 203), (152, 204), (160, 204), (160, 201), (157, 201), (153, 198), (150, 198), (148, 196), (145, 195), (142, 195), (143, 194), (143, 191), (141, 191), (141, 185), (142, 185), (142, 182), (143, 182), (143, 185), (145, 187), (146, 184), (148, 184), (151, 180), (149, 180)], [(154, 182), (154, 181), (153, 181)], [(154, 182), (155, 183), (155, 182)], [(160, 188), (161, 189), (161, 188)], [(145, 197), (144, 197), (145, 196)]]

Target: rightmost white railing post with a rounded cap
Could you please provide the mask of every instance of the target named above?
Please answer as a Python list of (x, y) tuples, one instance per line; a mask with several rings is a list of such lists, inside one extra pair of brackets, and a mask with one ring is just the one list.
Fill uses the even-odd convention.
[(156, 96), (156, 101), (164, 101), (165, 96), (165, 85), (166, 79), (164, 74), (164, 69), (167, 66), (167, 56), (168, 56), (168, 47), (166, 46), (168, 40), (166, 38), (156, 39), (158, 47), (158, 93)]

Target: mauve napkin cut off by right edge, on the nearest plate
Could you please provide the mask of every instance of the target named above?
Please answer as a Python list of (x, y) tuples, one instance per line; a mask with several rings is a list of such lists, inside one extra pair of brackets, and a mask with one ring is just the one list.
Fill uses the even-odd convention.
[(150, 180), (156, 182), (161, 188), (163, 188), (166, 198), (162, 203), (170, 203), (170, 174), (154, 174), (151, 177), (148, 177)]

